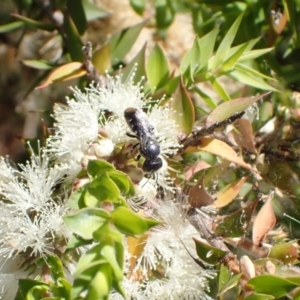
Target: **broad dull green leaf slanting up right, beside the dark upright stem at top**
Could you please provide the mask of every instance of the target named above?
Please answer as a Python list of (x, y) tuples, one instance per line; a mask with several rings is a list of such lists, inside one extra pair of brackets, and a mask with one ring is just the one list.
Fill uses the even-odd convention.
[(146, 22), (126, 28), (114, 34), (107, 42), (110, 45), (112, 63), (121, 62), (138, 38)]

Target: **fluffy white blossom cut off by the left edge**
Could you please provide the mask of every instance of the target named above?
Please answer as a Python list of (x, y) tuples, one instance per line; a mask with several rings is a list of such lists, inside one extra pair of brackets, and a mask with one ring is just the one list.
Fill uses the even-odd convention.
[(34, 275), (25, 261), (53, 254), (56, 239), (66, 241), (71, 235), (62, 219), (64, 199), (54, 196), (67, 172), (67, 165), (51, 167), (42, 151), (33, 153), (19, 170), (0, 158), (0, 296), (4, 299), (14, 299), (10, 295), (17, 290), (17, 279)]

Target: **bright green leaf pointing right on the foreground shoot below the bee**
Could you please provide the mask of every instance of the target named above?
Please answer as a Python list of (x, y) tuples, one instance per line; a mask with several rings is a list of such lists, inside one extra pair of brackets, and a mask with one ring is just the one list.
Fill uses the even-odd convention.
[(127, 235), (142, 234), (150, 228), (161, 224), (157, 220), (140, 217), (126, 207), (118, 207), (111, 215), (114, 225)]

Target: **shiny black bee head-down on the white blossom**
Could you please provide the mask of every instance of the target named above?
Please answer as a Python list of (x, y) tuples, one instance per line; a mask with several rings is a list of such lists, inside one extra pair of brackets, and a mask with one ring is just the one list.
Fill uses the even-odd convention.
[(147, 173), (156, 172), (162, 167), (162, 159), (159, 156), (160, 147), (154, 136), (154, 128), (149, 123), (146, 114), (133, 107), (124, 112), (124, 117), (133, 134), (128, 134), (139, 140), (139, 150), (145, 158), (143, 170)]

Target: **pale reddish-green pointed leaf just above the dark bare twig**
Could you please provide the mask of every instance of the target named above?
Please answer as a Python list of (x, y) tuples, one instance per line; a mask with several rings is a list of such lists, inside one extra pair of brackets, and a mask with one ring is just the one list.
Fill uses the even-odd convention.
[(246, 110), (249, 106), (251, 106), (256, 101), (262, 99), (268, 94), (270, 94), (270, 92), (258, 95), (256, 97), (238, 98), (221, 103), (207, 117), (206, 126), (211, 126), (214, 123), (222, 122), (231, 117), (232, 115)]

